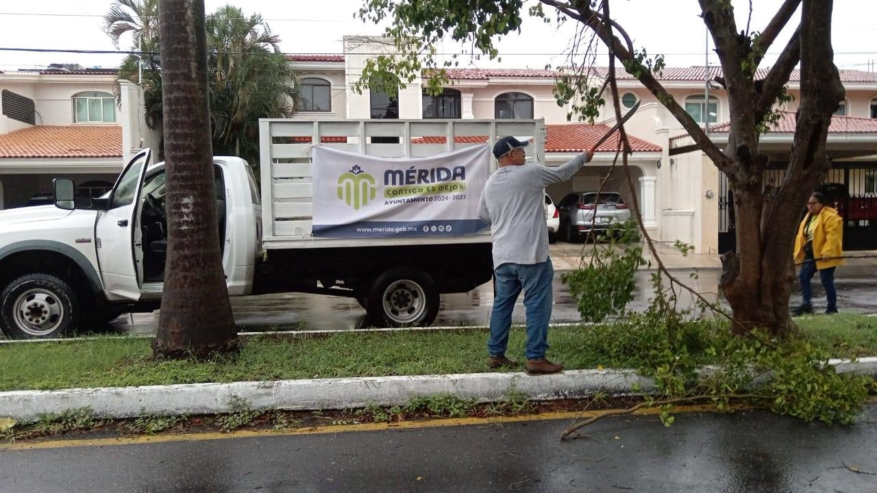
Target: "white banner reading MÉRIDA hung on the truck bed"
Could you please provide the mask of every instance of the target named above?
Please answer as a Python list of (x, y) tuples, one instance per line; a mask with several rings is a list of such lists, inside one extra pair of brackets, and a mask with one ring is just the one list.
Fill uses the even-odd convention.
[(478, 201), (487, 146), (426, 158), (313, 148), (313, 234), (329, 238), (462, 236), (487, 227)]

